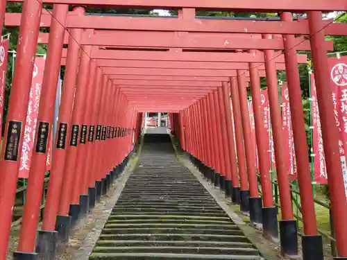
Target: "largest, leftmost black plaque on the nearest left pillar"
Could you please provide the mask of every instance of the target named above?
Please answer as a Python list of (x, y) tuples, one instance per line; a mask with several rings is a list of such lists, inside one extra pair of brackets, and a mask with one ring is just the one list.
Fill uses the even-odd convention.
[(5, 161), (17, 162), (19, 141), (21, 138), (22, 122), (8, 122), (8, 132), (5, 148)]

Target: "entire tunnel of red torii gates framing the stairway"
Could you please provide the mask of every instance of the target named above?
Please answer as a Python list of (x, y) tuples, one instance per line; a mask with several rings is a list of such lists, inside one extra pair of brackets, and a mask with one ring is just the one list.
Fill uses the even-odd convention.
[[(20, 2), (8, 0), (7, 2)], [(44, 4), (53, 4), (48, 12)], [(86, 8), (178, 10), (178, 17), (88, 14)], [(71, 7), (71, 11), (69, 11)], [(37, 44), (48, 44), (35, 148), (15, 259), (35, 259), (35, 243), (56, 236), (66, 242), (77, 218), (99, 201), (110, 173), (124, 168), (141, 132), (144, 112), (168, 112), (174, 134), (203, 175), (221, 183), (233, 203), (262, 224), (266, 239), (280, 239), (281, 253), (298, 254), (282, 135), (277, 71), (285, 71), (303, 214), (303, 259), (323, 259), (317, 232), (298, 64), (310, 51), (321, 119), (337, 254), (347, 259), (347, 200), (335, 126), (325, 35), (347, 35), (347, 24), (322, 19), (346, 11), (346, 0), (26, 0), (22, 13), (6, 13), (1, 28), (19, 26), (0, 162), (0, 260), (6, 259), (26, 111)], [(278, 12), (273, 20), (203, 19), (196, 10)], [(292, 12), (307, 14), (294, 21)], [(40, 33), (49, 28), (49, 33)], [(298, 36), (301, 35), (301, 36)], [(66, 48), (67, 46), (67, 48)], [(48, 143), (60, 66), (65, 66), (58, 130), (41, 231), (37, 234)], [(260, 78), (269, 94), (281, 219), (267, 171)], [(251, 88), (255, 153), (248, 114)], [(230, 97), (232, 111), (230, 110)], [(232, 127), (232, 117), (235, 128)], [(42, 135), (43, 134), (43, 135)], [(258, 191), (259, 171), (261, 195)], [(89, 200), (89, 202), (88, 202)], [(88, 204), (89, 203), (89, 204)], [(78, 214), (76, 214), (78, 212)], [(36, 241), (36, 242), (35, 242)], [(58, 242), (57, 242), (58, 243)]]

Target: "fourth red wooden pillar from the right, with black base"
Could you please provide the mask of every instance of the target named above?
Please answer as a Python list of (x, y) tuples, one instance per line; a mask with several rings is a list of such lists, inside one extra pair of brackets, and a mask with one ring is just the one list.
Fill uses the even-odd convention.
[(278, 238), (277, 208), (273, 207), (272, 187), (269, 173), (269, 153), (266, 149), (266, 129), (264, 128), (264, 115), (262, 112), (262, 96), (260, 92), (260, 77), (257, 64), (250, 63), (252, 105), (255, 121), (255, 138), (259, 157), (260, 184), (262, 186), (262, 225), (263, 234), (268, 239)]

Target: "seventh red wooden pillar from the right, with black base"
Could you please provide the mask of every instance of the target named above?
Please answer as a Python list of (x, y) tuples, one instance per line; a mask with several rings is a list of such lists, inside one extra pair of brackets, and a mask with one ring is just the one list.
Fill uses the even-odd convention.
[[(226, 133), (228, 135), (228, 149), (230, 157), (230, 171), (232, 175), (231, 199), (235, 204), (239, 204), (239, 176), (237, 174), (237, 159), (235, 151), (234, 130), (232, 129), (231, 109), (230, 109), (230, 92), (226, 83), (222, 83), (223, 107), (226, 112)], [(226, 194), (227, 195), (227, 194)]]

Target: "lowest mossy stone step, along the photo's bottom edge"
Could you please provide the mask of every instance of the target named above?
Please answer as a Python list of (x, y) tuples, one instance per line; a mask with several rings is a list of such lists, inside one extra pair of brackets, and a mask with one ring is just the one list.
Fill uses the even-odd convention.
[(221, 259), (221, 260), (262, 260), (262, 257), (256, 256), (238, 256), (232, 254), (167, 254), (167, 253), (92, 253), (89, 259), (94, 260), (205, 260), (205, 259)]

